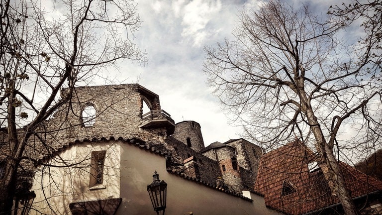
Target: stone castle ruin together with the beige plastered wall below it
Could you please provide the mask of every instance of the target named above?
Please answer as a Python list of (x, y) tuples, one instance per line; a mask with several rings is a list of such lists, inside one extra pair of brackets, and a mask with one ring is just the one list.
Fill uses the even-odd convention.
[(29, 139), (17, 183), (34, 202), (16, 195), (15, 210), (154, 213), (145, 186), (157, 171), (168, 183), (170, 214), (278, 214), (253, 192), (262, 154), (244, 139), (204, 147), (199, 123), (175, 123), (159, 96), (138, 84), (79, 87)]

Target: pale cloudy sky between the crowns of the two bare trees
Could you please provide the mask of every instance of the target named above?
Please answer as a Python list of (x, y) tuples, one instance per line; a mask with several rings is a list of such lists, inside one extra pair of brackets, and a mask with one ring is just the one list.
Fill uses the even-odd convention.
[(241, 138), (241, 128), (228, 123), (223, 106), (207, 86), (207, 76), (202, 72), (203, 47), (213, 46), (224, 38), (232, 40), (231, 32), (243, 7), (256, 7), (259, 1), (135, 2), (142, 26), (130, 38), (147, 52), (148, 63), (144, 66), (130, 61), (120, 63), (119, 74), (109, 74), (113, 84), (138, 83), (158, 94), (161, 108), (176, 123), (194, 120), (200, 124), (205, 146)]

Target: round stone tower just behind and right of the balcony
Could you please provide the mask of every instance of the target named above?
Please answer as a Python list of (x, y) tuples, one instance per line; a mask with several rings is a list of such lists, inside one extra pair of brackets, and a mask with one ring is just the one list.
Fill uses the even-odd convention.
[(192, 150), (199, 152), (204, 149), (203, 136), (200, 124), (195, 121), (182, 121), (175, 124), (173, 137), (189, 146)]

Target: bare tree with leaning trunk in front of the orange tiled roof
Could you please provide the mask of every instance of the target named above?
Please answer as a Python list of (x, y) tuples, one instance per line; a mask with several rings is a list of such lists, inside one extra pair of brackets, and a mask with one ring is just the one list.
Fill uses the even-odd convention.
[[(338, 160), (345, 149), (381, 146), (382, 92), (371, 52), (380, 47), (339, 40), (349, 24), (271, 0), (242, 13), (235, 41), (205, 47), (204, 72), (247, 135), (270, 148), (295, 137), (310, 146), (332, 194), (355, 215)], [(350, 125), (356, 135), (342, 135)]]

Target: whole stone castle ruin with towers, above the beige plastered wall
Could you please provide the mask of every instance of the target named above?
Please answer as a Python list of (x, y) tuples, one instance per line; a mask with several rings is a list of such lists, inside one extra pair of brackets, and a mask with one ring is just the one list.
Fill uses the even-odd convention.
[[(61, 97), (68, 96), (63, 90)], [(143, 112), (143, 107), (149, 112)], [(0, 160), (6, 160), (7, 135), (1, 130)], [(19, 189), (31, 188), (36, 162), (44, 162), (77, 142), (129, 139), (166, 152), (167, 171), (241, 194), (256, 181), (261, 147), (231, 139), (204, 146), (200, 124), (175, 123), (159, 96), (139, 84), (78, 87), (33, 135), (19, 170)]]

